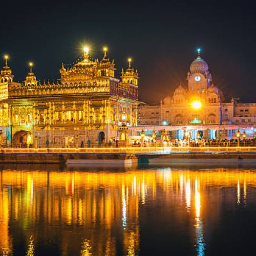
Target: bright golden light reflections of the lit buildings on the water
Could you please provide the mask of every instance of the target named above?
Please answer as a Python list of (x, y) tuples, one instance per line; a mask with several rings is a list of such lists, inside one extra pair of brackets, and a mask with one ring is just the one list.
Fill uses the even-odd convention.
[[(236, 188), (239, 180), (243, 181), (239, 188), (243, 186), (244, 198), (248, 198), (246, 186), (256, 186), (256, 173), (246, 170), (239, 173), (221, 169), (176, 172), (170, 168), (126, 173), (3, 170), (0, 176), (0, 248), (12, 251), (14, 245), (8, 227), (15, 219), (26, 236), (26, 246), (36, 245), (42, 233), (47, 236), (50, 226), (53, 237), (64, 233), (61, 237), (63, 254), (79, 248), (84, 255), (112, 255), (117, 253), (117, 238), (112, 229), (118, 227), (122, 230), (123, 251), (138, 254), (139, 206), (161, 200), (166, 209), (173, 208), (174, 204), (183, 208), (184, 215), (179, 218), (187, 220), (188, 214), (191, 215), (191, 222), (196, 222), (198, 246), (202, 249), (202, 216), (209, 210), (204, 206), (206, 188)], [(7, 186), (11, 189), (9, 196)], [(218, 200), (216, 194), (213, 199)], [(233, 201), (236, 200), (237, 195), (233, 193)], [(39, 220), (43, 222), (42, 230), (35, 229), (31, 238), (28, 230)], [(71, 228), (73, 236), (70, 236)]]

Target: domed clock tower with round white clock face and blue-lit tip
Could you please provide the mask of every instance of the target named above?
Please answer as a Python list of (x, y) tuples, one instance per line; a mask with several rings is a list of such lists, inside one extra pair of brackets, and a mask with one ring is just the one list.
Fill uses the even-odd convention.
[(211, 83), (207, 62), (201, 58), (201, 49), (197, 49), (198, 56), (190, 64), (187, 73), (188, 91), (192, 94), (205, 94)]

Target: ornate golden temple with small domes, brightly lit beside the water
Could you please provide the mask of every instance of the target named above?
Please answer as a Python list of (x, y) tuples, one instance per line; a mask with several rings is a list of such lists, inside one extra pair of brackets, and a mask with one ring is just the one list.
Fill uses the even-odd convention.
[(0, 76), (2, 143), (33, 144), (37, 136), (38, 146), (74, 146), (88, 139), (104, 144), (118, 138), (121, 124), (137, 125), (138, 72), (131, 59), (120, 80), (106, 49), (101, 61), (88, 51), (70, 69), (62, 63), (57, 83), (43, 84), (36, 80), (32, 63), (26, 80), (14, 82), (5, 56)]

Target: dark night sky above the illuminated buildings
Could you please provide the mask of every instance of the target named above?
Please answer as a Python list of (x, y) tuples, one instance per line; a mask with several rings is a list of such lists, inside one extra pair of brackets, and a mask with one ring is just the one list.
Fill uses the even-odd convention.
[[(179, 3), (181, 2), (181, 3)], [(38, 79), (59, 78), (88, 44), (93, 57), (115, 59), (117, 73), (127, 57), (139, 71), (140, 100), (158, 103), (186, 83), (196, 49), (208, 62), (226, 100), (256, 102), (256, 18), (252, 1), (19, 1), (1, 4), (2, 55), (16, 81), (34, 62)]]

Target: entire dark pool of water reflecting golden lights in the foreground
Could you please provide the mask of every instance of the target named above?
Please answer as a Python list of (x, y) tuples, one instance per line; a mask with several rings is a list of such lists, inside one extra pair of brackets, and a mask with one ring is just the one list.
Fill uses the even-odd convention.
[(256, 169), (1, 169), (3, 255), (255, 255)]

